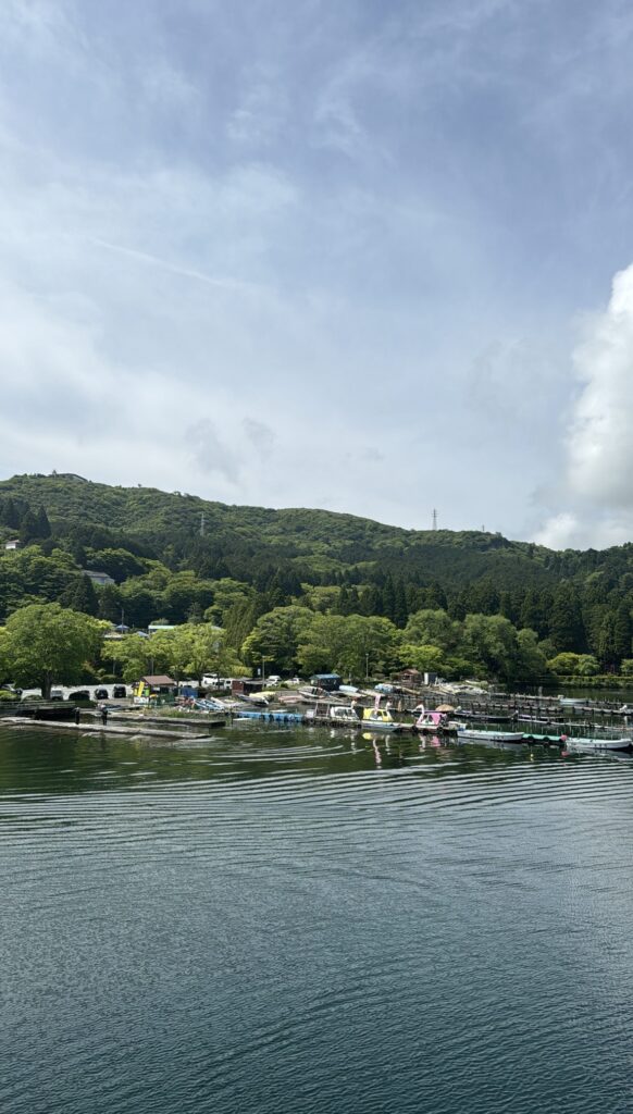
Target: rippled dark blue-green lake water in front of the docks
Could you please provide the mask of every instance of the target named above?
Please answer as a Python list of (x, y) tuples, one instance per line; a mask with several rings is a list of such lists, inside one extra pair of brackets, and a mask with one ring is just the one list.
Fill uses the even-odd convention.
[(0, 729), (3, 1114), (633, 1112), (633, 764)]

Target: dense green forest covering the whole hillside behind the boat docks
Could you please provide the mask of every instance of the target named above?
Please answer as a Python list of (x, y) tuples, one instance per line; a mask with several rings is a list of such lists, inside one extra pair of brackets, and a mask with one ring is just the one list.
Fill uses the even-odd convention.
[(60, 604), (133, 629), (213, 624), (234, 661), (277, 671), (358, 675), (370, 658), (373, 672), (506, 681), (633, 668), (629, 544), (556, 553), (53, 473), (0, 482), (0, 623)]

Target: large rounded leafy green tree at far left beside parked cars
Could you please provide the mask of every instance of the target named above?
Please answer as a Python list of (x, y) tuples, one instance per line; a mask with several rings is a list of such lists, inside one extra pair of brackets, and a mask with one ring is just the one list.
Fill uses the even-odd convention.
[(39, 685), (50, 696), (53, 682), (79, 680), (87, 662), (99, 651), (105, 624), (59, 604), (30, 604), (9, 617), (6, 656), (13, 680)]

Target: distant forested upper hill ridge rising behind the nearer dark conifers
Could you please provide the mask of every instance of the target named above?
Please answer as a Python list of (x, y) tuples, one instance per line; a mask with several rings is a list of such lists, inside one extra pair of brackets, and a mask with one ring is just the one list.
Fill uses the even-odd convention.
[[(43, 507), (58, 538), (92, 549), (126, 548), (203, 576), (246, 580), (263, 568), (282, 567), (302, 580), (329, 584), (345, 573), (349, 578), (354, 567), (352, 580), (357, 571), (360, 580), (391, 573), (419, 585), (458, 586), (491, 577), (498, 588), (545, 587), (593, 571), (606, 559), (594, 551), (557, 554), (498, 534), (405, 530), (325, 510), (226, 506), (78, 476), (14, 476), (0, 482), (0, 512), (9, 501), (13, 512), (0, 514), (4, 536), (18, 529), (26, 510)], [(631, 555), (621, 556), (627, 565)]]

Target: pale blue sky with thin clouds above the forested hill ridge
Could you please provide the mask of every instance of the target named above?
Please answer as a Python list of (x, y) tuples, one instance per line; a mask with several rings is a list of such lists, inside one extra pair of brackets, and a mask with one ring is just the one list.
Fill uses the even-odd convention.
[(633, 539), (629, 0), (0, 0), (0, 477)]

